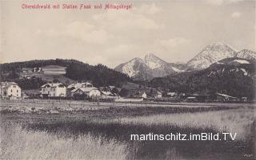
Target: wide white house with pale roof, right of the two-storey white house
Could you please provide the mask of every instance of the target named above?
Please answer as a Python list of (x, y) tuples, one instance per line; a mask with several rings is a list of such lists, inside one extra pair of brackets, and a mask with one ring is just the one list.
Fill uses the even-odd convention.
[(97, 88), (75, 88), (71, 91), (71, 96), (83, 96), (85, 98), (95, 98), (101, 96)]

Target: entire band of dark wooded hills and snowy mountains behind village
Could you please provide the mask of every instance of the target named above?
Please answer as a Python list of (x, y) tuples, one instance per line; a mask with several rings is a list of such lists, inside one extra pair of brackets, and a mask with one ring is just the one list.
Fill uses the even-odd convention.
[(168, 63), (154, 54), (147, 54), (143, 58), (134, 58), (118, 65), (116, 71), (102, 64), (93, 66), (78, 60), (30, 60), (0, 64), (0, 80), (14, 81), (22, 89), (38, 89), (49, 81), (49, 77), (44, 79), (44, 76), (35, 76), (24, 79), (19, 76), (22, 68), (59, 65), (66, 67), (66, 74), (61, 77), (53, 76), (51, 80), (58, 79), (66, 84), (69, 84), (66, 81), (70, 80), (88, 80), (93, 82), (95, 87), (114, 85), (126, 89), (133, 84), (137, 86), (130, 89), (133, 92), (141, 91), (143, 88), (188, 94), (221, 92), (230, 96), (254, 99), (255, 55), (256, 53), (248, 49), (236, 52), (228, 45), (215, 43), (207, 45), (186, 64)]

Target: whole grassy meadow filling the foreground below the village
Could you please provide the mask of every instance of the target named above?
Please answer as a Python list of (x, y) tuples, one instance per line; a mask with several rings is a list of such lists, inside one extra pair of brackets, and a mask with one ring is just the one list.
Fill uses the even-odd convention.
[[(63, 105), (62, 105), (63, 103)], [(2, 101), (2, 159), (254, 159), (255, 105)], [(237, 133), (218, 141), (130, 135)]]

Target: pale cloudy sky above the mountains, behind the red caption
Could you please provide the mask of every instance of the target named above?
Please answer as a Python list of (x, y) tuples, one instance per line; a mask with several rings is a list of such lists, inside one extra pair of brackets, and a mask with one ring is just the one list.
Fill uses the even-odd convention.
[[(106, 3), (130, 10), (36, 10), (22, 4)], [(256, 1), (0, 1), (0, 62), (75, 59), (116, 67), (153, 53), (186, 62), (213, 42), (256, 51)]]

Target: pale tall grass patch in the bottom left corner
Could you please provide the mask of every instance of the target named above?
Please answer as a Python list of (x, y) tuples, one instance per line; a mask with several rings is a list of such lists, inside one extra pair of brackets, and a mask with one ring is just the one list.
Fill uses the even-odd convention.
[(28, 131), (12, 123), (1, 126), (2, 159), (125, 159), (126, 145), (90, 134)]

